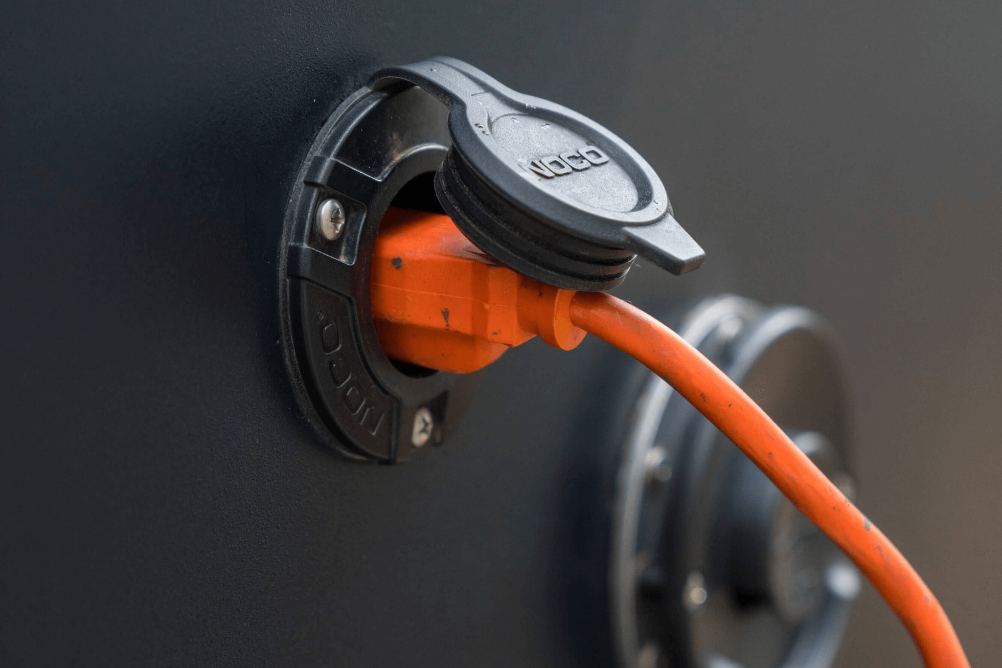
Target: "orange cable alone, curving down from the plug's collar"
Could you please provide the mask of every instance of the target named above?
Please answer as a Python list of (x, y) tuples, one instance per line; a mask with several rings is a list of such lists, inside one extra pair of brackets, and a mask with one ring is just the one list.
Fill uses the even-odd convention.
[(926, 666), (969, 668), (953, 625), (908, 560), (723, 372), (610, 294), (576, 293), (570, 317), (657, 374), (730, 439), (866, 574), (912, 634)]

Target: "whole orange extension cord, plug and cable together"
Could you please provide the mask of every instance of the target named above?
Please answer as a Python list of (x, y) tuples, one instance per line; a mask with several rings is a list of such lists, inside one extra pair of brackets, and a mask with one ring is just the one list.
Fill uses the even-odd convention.
[(904, 622), (926, 666), (969, 667), (943, 608), (891, 541), (723, 372), (647, 313), (608, 294), (518, 274), (448, 216), (394, 208), (376, 238), (370, 298), (387, 356), (431, 369), (473, 372), (537, 336), (570, 351), (586, 331), (635, 358), (849, 555)]

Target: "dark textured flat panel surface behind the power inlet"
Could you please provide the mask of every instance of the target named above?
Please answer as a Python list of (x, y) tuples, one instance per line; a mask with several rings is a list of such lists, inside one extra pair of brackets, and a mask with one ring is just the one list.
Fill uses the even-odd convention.
[[(601, 663), (575, 580), (611, 392), (585, 383), (597, 343), (502, 359), (449, 446), (397, 468), (323, 449), (282, 364), (303, 152), (376, 69), (449, 53), (660, 173), (708, 259), (634, 268), (623, 294), (726, 289), (832, 320), (861, 503), (990, 665), (1000, 20), (989, 2), (6, 3), (0, 662)], [(869, 590), (841, 661), (918, 665)]]

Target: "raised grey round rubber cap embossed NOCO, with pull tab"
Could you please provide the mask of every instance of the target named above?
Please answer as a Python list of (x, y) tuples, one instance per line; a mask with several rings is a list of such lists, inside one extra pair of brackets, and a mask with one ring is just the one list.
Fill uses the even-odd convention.
[(618, 284), (635, 255), (672, 273), (702, 262), (654, 170), (595, 121), (453, 58), (383, 70), (374, 87), (399, 80), (450, 105), (453, 145), (435, 190), (459, 228), (500, 262), (580, 290)]

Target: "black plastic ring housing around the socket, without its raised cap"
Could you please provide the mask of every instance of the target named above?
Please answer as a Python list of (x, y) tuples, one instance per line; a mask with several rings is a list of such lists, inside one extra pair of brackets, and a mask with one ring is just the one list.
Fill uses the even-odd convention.
[[(290, 197), (281, 258), (289, 369), (318, 434), (350, 456), (410, 459), (418, 451), (411, 434), (421, 409), (431, 413), (431, 442), (440, 445), (468, 396), (453, 392), (462, 377), (387, 359), (369, 306), (373, 243), (387, 206), (402, 192), (410, 199), (405, 205), (434, 202), (428, 177), (449, 147), (446, 113), (408, 84), (357, 91), (324, 125)], [(422, 188), (429, 197), (414, 204), (410, 191)], [(345, 210), (334, 240), (314, 225), (327, 198)], [(465, 385), (471, 381), (466, 377)]]

